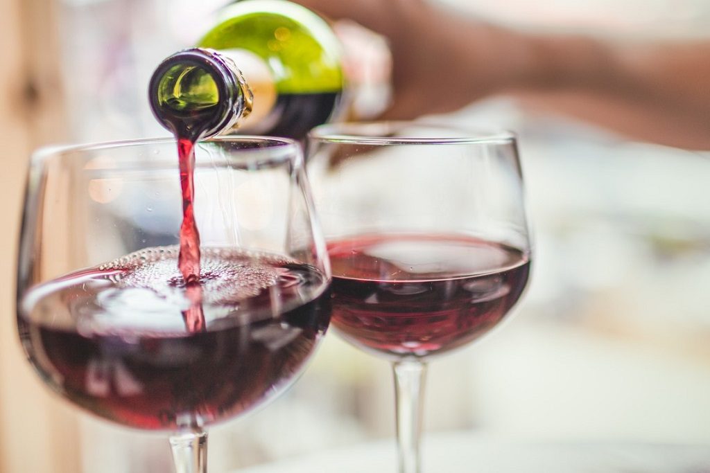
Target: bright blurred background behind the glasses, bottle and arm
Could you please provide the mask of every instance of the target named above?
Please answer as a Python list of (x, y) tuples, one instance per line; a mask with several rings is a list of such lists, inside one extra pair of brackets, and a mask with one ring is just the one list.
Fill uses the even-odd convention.
[[(0, 471), (169, 471), (165, 438), (77, 413), (23, 360), (16, 235), (33, 149), (166, 134), (148, 77), (224, 1), (2, 2)], [(706, 0), (447, 3), (525, 29), (710, 35)], [(506, 97), (447, 119), (520, 134), (537, 255), (504, 328), (432, 364), (427, 432), (710, 444), (710, 152), (634, 143)], [(387, 362), (331, 334), (288, 394), (212, 429), (210, 468), (391, 438), (391, 384)]]

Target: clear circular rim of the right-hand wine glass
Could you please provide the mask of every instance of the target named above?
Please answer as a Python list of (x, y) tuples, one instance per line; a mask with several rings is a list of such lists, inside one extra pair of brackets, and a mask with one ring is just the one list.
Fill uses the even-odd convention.
[[(377, 135), (368, 130), (405, 130), (407, 127), (442, 130), (449, 136)], [(313, 128), (308, 138), (327, 143), (361, 145), (464, 145), (515, 143), (516, 135), (509, 130), (471, 130), (456, 124), (427, 121), (363, 121), (354, 123), (329, 123)]]

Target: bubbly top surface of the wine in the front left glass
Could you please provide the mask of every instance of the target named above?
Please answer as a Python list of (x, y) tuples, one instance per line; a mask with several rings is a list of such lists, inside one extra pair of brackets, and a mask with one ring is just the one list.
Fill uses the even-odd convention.
[[(84, 335), (185, 333), (183, 313), (194, 301), (178, 269), (178, 252), (177, 246), (146, 248), (38, 286), (23, 301), (26, 316)], [(326, 284), (313, 268), (282, 255), (203, 247), (201, 260), (207, 330), (277, 317)]]

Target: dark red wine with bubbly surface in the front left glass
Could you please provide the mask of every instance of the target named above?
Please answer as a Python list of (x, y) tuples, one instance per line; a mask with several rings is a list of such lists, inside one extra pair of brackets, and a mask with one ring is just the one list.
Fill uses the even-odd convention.
[(281, 391), (327, 327), (327, 278), (278, 255), (202, 253), (199, 332), (180, 317), (192, 301), (178, 247), (35, 286), (18, 318), (35, 369), (74, 404), (141, 429), (209, 425)]

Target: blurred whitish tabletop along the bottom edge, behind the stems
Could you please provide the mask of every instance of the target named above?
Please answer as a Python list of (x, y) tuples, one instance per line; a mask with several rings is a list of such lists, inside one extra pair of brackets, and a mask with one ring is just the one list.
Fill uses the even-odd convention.
[[(394, 441), (356, 445), (239, 473), (395, 473)], [(533, 443), (427, 435), (425, 473), (710, 473), (710, 445)], [(237, 472), (234, 472), (237, 473)]]

